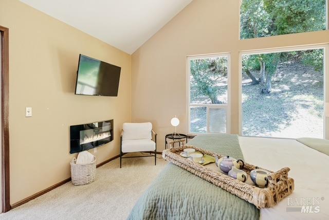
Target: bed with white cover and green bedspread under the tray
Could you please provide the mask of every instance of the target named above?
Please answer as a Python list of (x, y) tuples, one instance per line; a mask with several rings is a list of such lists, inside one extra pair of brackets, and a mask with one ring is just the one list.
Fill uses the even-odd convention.
[(288, 198), (273, 208), (259, 210), (247, 201), (169, 163), (137, 201), (129, 219), (329, 218), (327, 155), (290, 139), (199, 135), (189, 144), (241, 158), (273, 171), (289, 167), (289, 176), (295, 179), (295, 191), (288, 197), (298, 200), (301, 197), (320, 198), (320, 212), (304, 214), (291, 212), (291, 209), (287, 212), (287, 207), (295, 207), (288, 206)]

